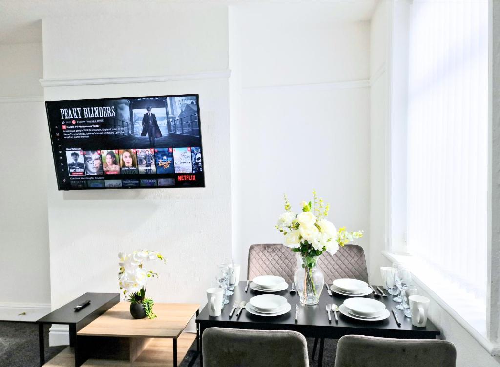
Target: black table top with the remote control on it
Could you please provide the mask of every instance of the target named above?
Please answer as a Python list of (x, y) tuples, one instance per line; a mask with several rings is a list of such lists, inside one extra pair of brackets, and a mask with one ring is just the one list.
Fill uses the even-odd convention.
[[(38, 319), (36, 322), (45, 324), (77, 324), (87, 316), (91, 315), (108, 302), (119, 300), (118, 293), (85, 293), (80, 297), (68, 302), (50, 314)], [(80, 303), (90, 300), (90, 304), (80, 311), (74, 311), (74, 307)]]

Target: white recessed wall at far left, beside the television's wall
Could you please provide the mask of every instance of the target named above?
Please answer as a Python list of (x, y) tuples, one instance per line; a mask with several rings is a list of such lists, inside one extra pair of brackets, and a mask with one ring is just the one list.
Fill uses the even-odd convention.
[(34, 321), (50, 303), (41, 76), (41, 44), (0, 45), (0, 320)]

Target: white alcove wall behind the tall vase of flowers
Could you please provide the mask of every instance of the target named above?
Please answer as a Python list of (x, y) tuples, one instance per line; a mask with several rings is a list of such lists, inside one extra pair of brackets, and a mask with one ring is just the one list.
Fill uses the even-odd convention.
[(283, 240), (283, 193), (299, 210), (316, 189), (338, 227), (370, 231), (369, 23), (335, 21), (326, 7), (320, 22), (272, 10), (229, 13), (233, 257), (244, 275), (249, 245)]

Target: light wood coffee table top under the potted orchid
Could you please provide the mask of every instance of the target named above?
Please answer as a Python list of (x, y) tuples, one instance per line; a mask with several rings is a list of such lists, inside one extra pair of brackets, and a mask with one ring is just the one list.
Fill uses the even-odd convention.
[(130, 303), (120, 302), (81, 329), (78, 336), (176, 339), (199, 309), (198, 304), (155, 303), (153, 320), (136, 320)]

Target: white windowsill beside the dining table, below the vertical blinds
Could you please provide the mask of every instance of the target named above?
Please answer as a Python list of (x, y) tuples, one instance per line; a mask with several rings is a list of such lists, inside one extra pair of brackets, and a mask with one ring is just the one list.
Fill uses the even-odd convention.
[[(415, 269), (414, 267), (411, 267), (411, 256), (408, 255), (400, 255), (400, 254), (392, 254), (389, 253), (388, 251), (382, 251), (382, 255), (385, 256), (388, 260), (391, 262), (399, 262), (399, 263), (404, 263), (407, 264), (408, 267), (411, 269), (411, 274), (413, 275), (413, 281), (416, 285), (418, 285), (423, 291), (425, 291), (434, 302), (436, 302), (439, 306), (441, 306), (458, 324), (460, 324), (471, 336), (474, 338), (491, 356), (500, 356), (500, 346), (494, 345), (491, 343), (483, 334), (478, 332), (478, 330), (481, 330), (482, 332), (485, 333), (485, 320), (484, 320), (484, 315), (481, 315), (480, 312), (475, 312), (474, 313), (474, 307), (470, 307), (470, 298), (467, 297), (467, 295), (463, 295), (462, 297), (462, 305), (463, 309), (467, 309), (466, 315), (469, 320), (472, 320), (472, 322), (469, 322), (465, 320), (462, 316), (460, 316), (459, 311), (455, 310), (452, 308), (446, 301), (443, 300), (442, 297), (446, 298), (445, 295), (442, 297), (439, 296), (436, 292), (432, 290), (432, 286), (430, 286), (428, 281), (425, 281), (425, 274), (418, 274), (418, 269)], [(445, 292), (445, 289), (440, 289), (439, 288), (439, 293), (443, 294)], [(452, 296), (452, 298), (455, 301), (460, 301), (457, 298), (456, 294), (452, 294), (449, 292), (449, 296)], [(447, 295), (446, 295), (447, 296)], [(448, 298), (449, 299), (449, 298)], [(457, 312), (458, 311), (458, 312)], [(482, 324), (482, 325), (481, 325)], [(474, 327), (475, 326), (475, 327)]]

